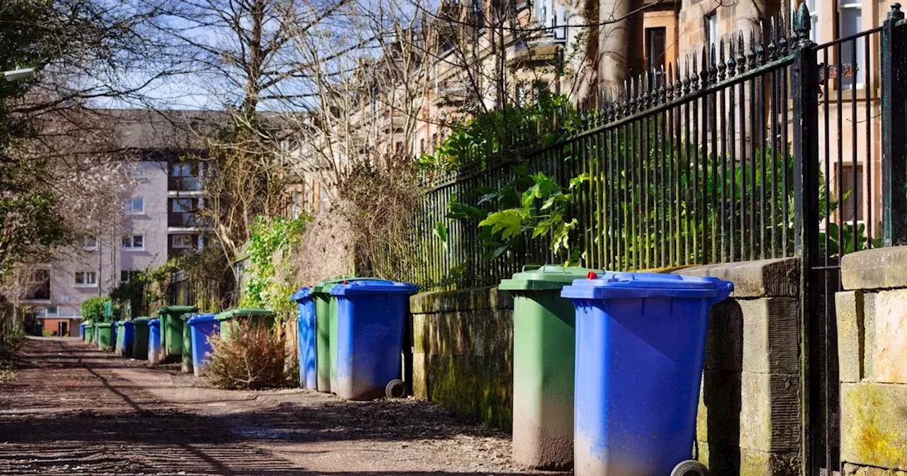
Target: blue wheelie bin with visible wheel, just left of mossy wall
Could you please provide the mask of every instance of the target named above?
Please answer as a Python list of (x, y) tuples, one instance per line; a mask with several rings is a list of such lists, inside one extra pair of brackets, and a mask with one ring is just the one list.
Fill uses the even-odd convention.
[(400, 380), (404, 325), (416, 289), (378, 279), (331, 288), (337, 300), (337, 396), (374, 400), (405, 394)]

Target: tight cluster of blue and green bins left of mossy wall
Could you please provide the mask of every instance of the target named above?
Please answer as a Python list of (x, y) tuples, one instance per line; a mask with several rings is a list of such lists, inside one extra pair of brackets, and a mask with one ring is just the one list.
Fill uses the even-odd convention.
[(417, 287), (376, 278), (302, 287), (297, 303), (299, 384), (346, 400), (402, 396), (405, 319)]

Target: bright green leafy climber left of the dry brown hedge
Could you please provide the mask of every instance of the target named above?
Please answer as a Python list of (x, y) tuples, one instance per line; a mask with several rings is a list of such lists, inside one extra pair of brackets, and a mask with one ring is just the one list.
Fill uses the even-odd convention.
[(296, 290), (294, 283), (279, 282), (278, 266), (297, 244), (309, 220), (280, 217), (257, 217), (252, 224), (249, 240), (249, 280), (239, 306), (264, 307), (275, 311), (293, 312), (289, 296)]

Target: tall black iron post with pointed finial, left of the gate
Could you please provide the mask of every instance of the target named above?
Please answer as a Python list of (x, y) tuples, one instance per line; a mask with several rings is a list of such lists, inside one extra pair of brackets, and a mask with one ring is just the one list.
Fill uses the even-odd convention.
[(819, 243), (819, 68), (809, 39), (810, 18), (801, 2), (794, 22), (795, 59), (791, 72), (794, 102), (794, 254), (800, 260), (800, 431), (803, 467), (814, 474), (810, 395), (812, 393), (811, 274)]

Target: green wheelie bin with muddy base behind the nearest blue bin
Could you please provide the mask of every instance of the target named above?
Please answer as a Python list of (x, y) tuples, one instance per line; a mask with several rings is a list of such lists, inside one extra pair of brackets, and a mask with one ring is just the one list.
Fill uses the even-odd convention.
[(561, 288), (602, 271), (523, 267), (499, 289), (513, 295), (513, 461), (543, 470), (573, 465), (575, 313)]

